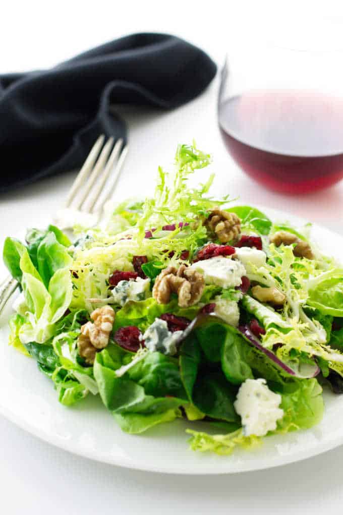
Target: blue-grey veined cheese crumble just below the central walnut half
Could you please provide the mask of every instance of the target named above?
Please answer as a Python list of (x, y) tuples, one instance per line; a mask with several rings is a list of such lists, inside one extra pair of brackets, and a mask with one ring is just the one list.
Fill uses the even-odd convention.
[(173, 356), (177, 352), (176, 343), (181, 334), (182, 331), (172, 333), (168, 330), (168, 325), (165, 320), (156, 318), (156, 320), (149, 325), (141, 339), (145, 341), (145, 347), (149, 349), (149, 351), (159, 351), (162, 354)]

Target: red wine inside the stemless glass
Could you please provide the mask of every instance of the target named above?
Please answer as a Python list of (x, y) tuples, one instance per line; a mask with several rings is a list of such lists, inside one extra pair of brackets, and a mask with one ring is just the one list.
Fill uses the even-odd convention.
[(343, 178), (343, 99), (306, 90), (252, 90), (219, 107), (231, 156), (255, 180), (305, 193)]

